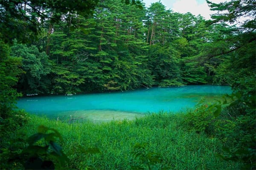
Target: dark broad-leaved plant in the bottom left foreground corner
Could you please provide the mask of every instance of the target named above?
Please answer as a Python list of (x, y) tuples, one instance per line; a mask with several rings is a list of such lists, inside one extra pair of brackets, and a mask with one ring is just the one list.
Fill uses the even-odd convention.
[[(21, 136), (23, 133), (14, 134), (17, 136), (10, 136), (10, 141), (16, 141), (9, 144), (9, 147), (2, 143), (4, 147), (1, 148), (3, 150), (1, 157), (8, 162), (8, 164), (1, 162), (1, 167), (4, 169), (20, 169), (21, 167), (25, 169), (55, 169), (65, 167), (68, 159), (57, 143), (57, 140), (63, 140), (57, 130), (40, 125), (38, 133), (29, 136), (27, 140)], [(18, 143), (17, 140), (19, 140)]]

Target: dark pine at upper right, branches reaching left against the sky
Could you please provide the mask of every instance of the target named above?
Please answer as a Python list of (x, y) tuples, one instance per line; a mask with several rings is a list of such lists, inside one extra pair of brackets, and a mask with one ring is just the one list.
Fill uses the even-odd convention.
[[(206, 57), (213, 58), (229, 54), (230, 68), (229, 80), (233, 89), (242, 94), (256, 94), (255, 73), (256, 73), (256, 3), (253, 0), (232, 0), (225, 3), (211, 3), (207, 1), (211, 10), (225, 11), (214, 14), (212, 24), (218, 22), (234, 23), (241, 20), (241, 17), (249, 19), (241, 20), (239, 26), (230, 29), (232, 36), (222, 37), (218, 42), (228, 43), (229, 48), (221, 51), (208, 53)], [(246, 80), (245, 80), (246, 79)]]

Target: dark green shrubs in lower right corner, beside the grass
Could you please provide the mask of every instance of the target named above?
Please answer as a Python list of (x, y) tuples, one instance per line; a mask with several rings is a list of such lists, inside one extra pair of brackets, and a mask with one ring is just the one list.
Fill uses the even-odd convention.
[(226, 143), (226, 147), (223, 148), (224, 154), (220, 157), (227, 161), (243, 162), (244, 169), (255, 169), (255, 96), (244, 100), (244, 97), (237, 93), (229, 97), (232, 100), (226, 111), (230, 116), (226, 119), (221, 118), (216, 125), (216, 136)]

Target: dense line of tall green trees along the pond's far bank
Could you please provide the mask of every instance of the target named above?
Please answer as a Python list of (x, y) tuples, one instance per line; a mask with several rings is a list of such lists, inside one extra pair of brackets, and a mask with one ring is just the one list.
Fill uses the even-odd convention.
[[(40, 15), (35, 15), (28, 14), (33, 6), (20, 3), (25, 16), (15, 22), (22, 23), (26, 33), (22, 38), (18, 32), (12, 37), (10, 52), (12, 57), (21, 57), (25, 73), (19, 76), (19, 92), (69, 94), (231, 84), (224, 70), (232, 55), (223, 51), (230, 49), (233, 26), (176, 13), (161, 2), (149, 8), (142, 3), (138, 8), (116, 0), (99, 1), (86, 14), (72, 7), (65, 14), (61, 9), (44, 13), (51, 8), (38, 8)], [(29, 22), (37, 28), (36, 37)], [(21, 44), (26, 38), (26, 44)], [(220, 54), (209, 57), (216, 53)]]

